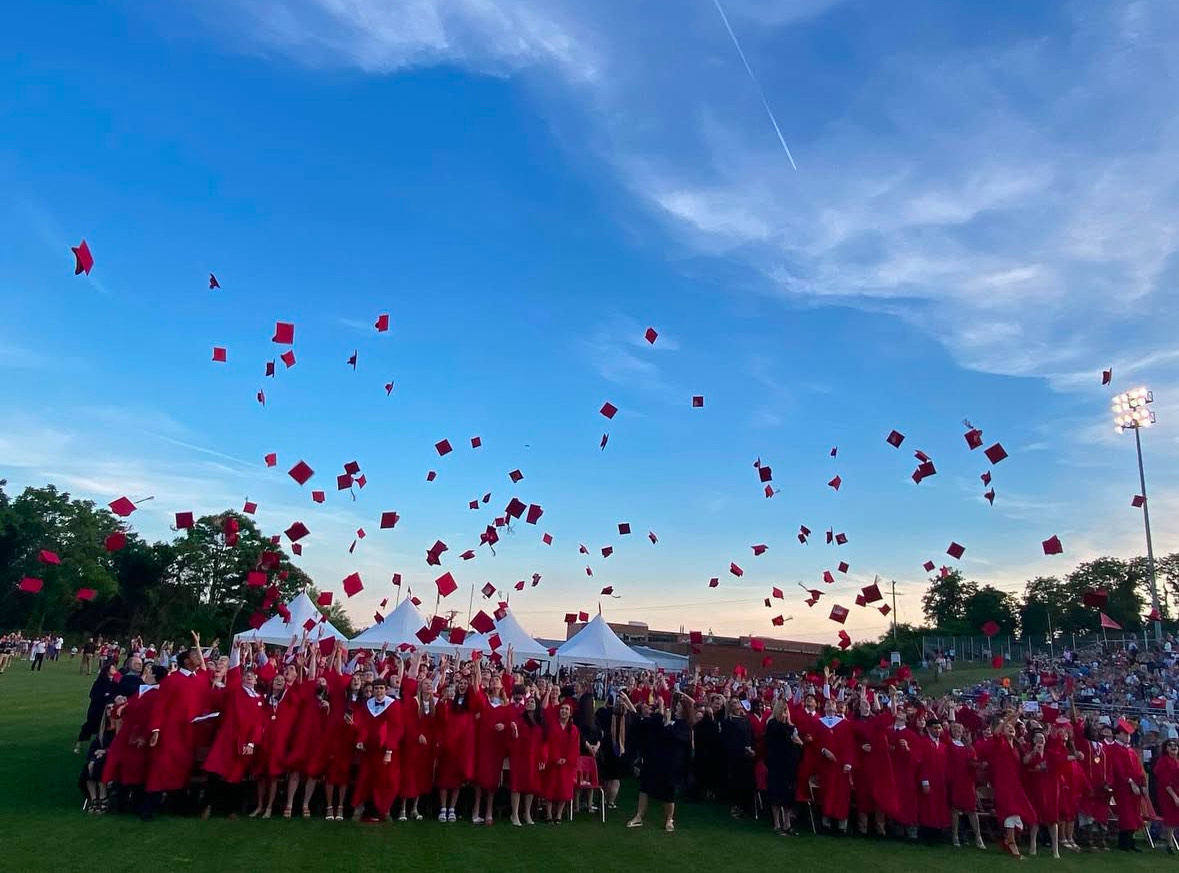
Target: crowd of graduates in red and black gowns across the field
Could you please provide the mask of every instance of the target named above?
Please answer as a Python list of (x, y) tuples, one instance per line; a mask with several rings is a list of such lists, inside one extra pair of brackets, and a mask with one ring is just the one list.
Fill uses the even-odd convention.
[(555, 825), (582, 808), (605, 819), (598, 803), (617, 808), (637, 777), (627, 827), (654, 801), (674, 831), (690, 799), (782, 836), (948, 835), (1059, 856), (1141, 851), (1153, 827), (1175, 851), (1179, 741), (1079, 713), (1067, 688), (1029, 704), (830, 670), (545, 676), (511, 650), (462, 661), (305, 641), (222, 655), (195, 638), (166, 665), (141, 643), (108, 654), (75, 749), (90, 741), (94, 814)]

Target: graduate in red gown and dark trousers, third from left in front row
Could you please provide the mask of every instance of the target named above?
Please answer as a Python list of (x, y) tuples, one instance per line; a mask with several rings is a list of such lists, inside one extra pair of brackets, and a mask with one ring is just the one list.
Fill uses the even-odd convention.
[(209, 818), (213, 806), (224, 807), (230, 815), (238, 812), (242, 780), (250, 773), (265, 730), (265, 698), (255, 687), (257, 676), (249, 665), (249, 646), (245, 649), (248, 665), (230, 668), (225, 678), (226, 693), (222, 700), (217, 736), (205, 759), (205, 770), (210, 774), (210, 802), (204, 818)]

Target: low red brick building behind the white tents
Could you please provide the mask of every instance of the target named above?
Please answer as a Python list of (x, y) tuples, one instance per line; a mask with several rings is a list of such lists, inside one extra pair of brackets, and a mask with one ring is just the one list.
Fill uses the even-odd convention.
[[(572, 638), (584, 624), (571, 624), (565, 629), (565, 638)], [(819, 643), (804, 643), (797, 639), (772, 639), (758, 637), (765, 645), (765, 651), (753, 651), (747, 636), (723, 637), (705, 634), (700, 645), (692, 646), (686, 631), (652, 630), (644, 622), (611, 622), (610, 629), (627, 645), (646, 645), (660, 651), (687, 655), (691, 670), (699, 667), (704, 672), (731, 674), (737, 665), (745, 668), (750, 676), (766, 676), (783, 672), (803, 672), (815, 667), (823, 654)], [(770, 664), (763, 667), (765, 658)]]

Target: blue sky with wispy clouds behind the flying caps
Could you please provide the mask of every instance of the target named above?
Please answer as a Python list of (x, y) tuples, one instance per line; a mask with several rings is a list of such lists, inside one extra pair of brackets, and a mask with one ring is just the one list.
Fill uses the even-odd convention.
[[(465, 590), (540, 572), (513, 600), (538, 635), (611, 584), (613, 621), (769, 635), (782, 611), (834, 641), (830, 604), (875, 573), (917, 619), (921, 564), (951, 540), (1009, 590), (1140, 552), (1112, 366), (1158, 396), (1155, 547), (1179, 549), (1179, 9), (724, 8), (797, 171), (711, 0), (21, 5), (0, 34), (0, 474), (152, 494), (146, 536), (249, 495), (266, 531), (311, 529), (322, 588), (362, 575), (361, 622), (394, 571), (430, 588), (441, 538)], [(298, 363), (266, 380), (278, 320)], [(1010, 453), (994, 507), (964, 418)], [(918, 448), (938, 474), (915, 486)], [(304, 488), (283, 472), (301, 458)], [(354, 459), (355, 503), (334, 487)], [(546, 514), (461, 562), (488, 491)], [(839, 560), (809, 610), (796, 583)]]

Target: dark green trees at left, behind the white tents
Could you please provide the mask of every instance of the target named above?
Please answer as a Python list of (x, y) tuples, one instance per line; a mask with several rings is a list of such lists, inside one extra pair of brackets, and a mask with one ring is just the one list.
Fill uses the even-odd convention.
[[(106, 507), (53, 485), (26, 487), (17, 497), (6, 485), (0, 480), (0, 631), (108, 639), (141, 634), (160, 642), (197, 630), (205, 639), (226, 639), (251, 617), (275, 613), (268, 604), (271, 586), (277, 588), (277, 603), (303, 590), (312, 599), (317, 596), (311, 578), (291, 564), (282, 544), (241, 512), (202, 516), (191, 527), (173, 529), (170, 540), (149, 541)], [(119, 533), (123, 537), (108, 540)], [(120, 541), (121, 547), (108, 549)], [(60, 563), (46, 563), (42, 551)], [(265, 573), (264, 584), (257, 584), (258, 572)], [(20, 590), (27, 577), (41, 579), (39, 592)], [(94, 593), (80, 599), (79, 591)], [(338, 603), (328, 618), (351, 635)]]

